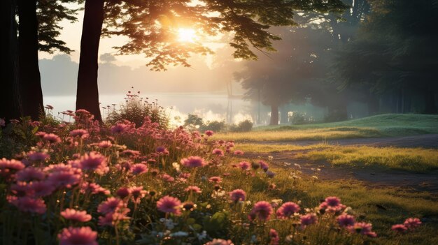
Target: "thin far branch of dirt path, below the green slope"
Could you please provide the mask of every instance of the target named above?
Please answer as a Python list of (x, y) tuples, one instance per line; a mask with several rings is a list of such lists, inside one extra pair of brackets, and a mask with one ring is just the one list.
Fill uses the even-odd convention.
[[(318, 140), (295, 140), (295, 141), (264, 141), (251, 142), (253, 144), (297, 144), (309, 145), (318, 144)], [(340, 139), (327, 140), (328, 144), (340, 145), (369, 145), (374, 147), (423, 147), (438, 149), (438, 134), (428, 135), (413, 135), (404, 137), (391, 138), (355, 138), (355, 139)]]

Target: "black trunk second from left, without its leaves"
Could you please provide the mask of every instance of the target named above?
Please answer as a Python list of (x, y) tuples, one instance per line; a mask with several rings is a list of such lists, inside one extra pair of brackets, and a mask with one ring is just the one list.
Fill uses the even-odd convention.
[(18, 54), (20, 58), (20, 93), (24, 116), (38, 120), (43, 113), (43, 91), (38, 67), (38, 20), (36, 0), (18, 0)]

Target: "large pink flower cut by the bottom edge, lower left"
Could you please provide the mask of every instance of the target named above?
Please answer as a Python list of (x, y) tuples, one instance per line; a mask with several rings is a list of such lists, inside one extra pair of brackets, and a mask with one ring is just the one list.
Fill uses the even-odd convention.
[(96, 242), (97, 232), (90, 227), (64, 228), (58, 235), (59, 245), (99, 245)]

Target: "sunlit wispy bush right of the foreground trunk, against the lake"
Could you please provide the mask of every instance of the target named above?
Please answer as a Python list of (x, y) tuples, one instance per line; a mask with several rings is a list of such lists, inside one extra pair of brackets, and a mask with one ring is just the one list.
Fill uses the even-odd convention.
[(158, 123), (162, 128), (169, 126), (169, 116), (166, 114), (164, 107), (156, 102), (148, 103), (148, 101), (143, 101), (138, 95), (129, 93), (127, 96), (126, 103), (121, 105), (119, 110), (113, 110), (108, 114), (105, 119), (107, 124), (128, 120), (133, 122), (136, 127), (139, 127), (143, 124), (145, 118), (149, 117), (150, 121)]

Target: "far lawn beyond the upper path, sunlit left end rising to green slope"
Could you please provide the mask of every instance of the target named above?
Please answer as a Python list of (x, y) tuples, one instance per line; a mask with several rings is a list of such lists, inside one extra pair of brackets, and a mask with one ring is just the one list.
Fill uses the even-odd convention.
[(326, 124), (261, 126), (247, 133), (218, 133), (214, 137), (236, 142), (338, 140), (438, 133), (438, 115), (381, 114)]

